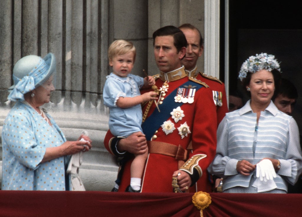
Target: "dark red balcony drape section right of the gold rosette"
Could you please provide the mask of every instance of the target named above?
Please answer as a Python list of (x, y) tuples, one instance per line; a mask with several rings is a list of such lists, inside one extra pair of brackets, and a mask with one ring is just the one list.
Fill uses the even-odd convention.
[(211, 193), (204, 217), (301, 217), (302, 194)]

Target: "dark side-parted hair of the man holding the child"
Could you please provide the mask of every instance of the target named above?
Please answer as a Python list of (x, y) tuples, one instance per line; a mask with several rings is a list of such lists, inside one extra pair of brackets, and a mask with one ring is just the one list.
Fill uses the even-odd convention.
[(175, 26), (164, 26), (156, 30), (153, 33), (153, 46), (156, 37), (167, 36), (167, 35), (173, 36), (174, 46), (176, 47), (177, 52), (179, 52), (182, 49), (182, 47), (187, 47), (187, 40), (185, 34)]

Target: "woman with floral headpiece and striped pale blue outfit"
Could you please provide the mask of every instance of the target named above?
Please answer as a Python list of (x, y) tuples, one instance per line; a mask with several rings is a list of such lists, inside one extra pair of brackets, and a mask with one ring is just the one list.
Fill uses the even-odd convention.
[(251, 99), (221, 121), (208, 168), (223, 178), (225, 193), (287, 193), (302, 172), (297, 123), (271, 101), (280, 73), (275, 56), (267, 53), (241, 66), (239, 79)]

